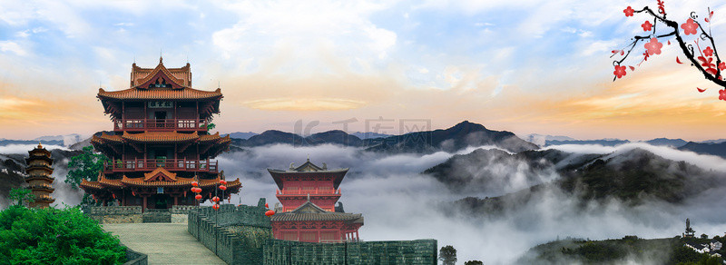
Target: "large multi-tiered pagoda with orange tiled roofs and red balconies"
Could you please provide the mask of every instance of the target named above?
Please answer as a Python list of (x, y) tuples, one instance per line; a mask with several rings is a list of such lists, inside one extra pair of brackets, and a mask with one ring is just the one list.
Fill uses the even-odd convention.
[(228, 182), (224, 196), (216, 188), (224, 179), (212, 160), (230, 146), (229, 135), (210, 134), (212, 114), (220, 113), (221, 90), (191, 88), (190, 64), (155, 68), (132, 64), (131, 87), (99, 89), (103, 110), (111, 116), (113, 133), (94, 135), (93, 147), (111, 159), (98, 180), (83, 180), (83, 191), (96, 201), (118, 201), (142, 209), (195, 205), (191, 182), (198, 181), (202, 200), (229, 198), (240, 191), (240, 179)]

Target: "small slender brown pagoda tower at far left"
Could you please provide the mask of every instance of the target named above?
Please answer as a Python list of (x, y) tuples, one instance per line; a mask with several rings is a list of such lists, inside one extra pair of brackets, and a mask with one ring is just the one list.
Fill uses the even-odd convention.
[(53, 159), (51, 158), (51, 152), (45, 150), (40, 142), (38, 146), (33, 150), (28, 151), (29, 157), (25, 159), (25, 163), (28, 165), (25, 168), (25, 182), (28, 183), (28, 189), (32, 191), (34, 195), (34, 201), (30, 202), (30, 207), (34, 208), (46, 208), (55, 201), (51, 197), (53, 193), (53, 181), (51, 177), (53, 174)]

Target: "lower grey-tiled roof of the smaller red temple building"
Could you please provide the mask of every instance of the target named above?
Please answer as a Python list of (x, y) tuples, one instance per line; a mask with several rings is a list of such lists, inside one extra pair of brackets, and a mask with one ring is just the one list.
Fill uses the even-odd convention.
[(363, 224), (363, 214), (325, 211), (311, 201), (305, 201), (293, 211), (272, 215), (270, 221), (347, 221)]

